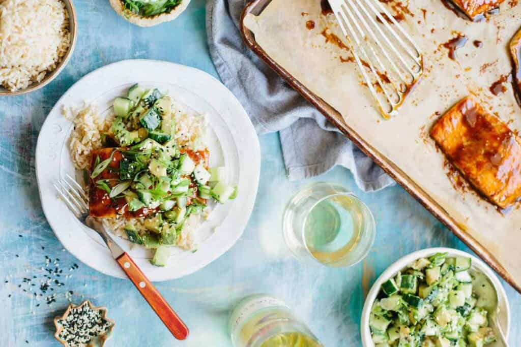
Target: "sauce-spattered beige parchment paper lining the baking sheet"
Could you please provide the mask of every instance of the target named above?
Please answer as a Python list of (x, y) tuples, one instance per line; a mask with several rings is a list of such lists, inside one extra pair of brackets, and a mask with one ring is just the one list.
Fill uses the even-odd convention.
[[(425, 74), (398, 117), (389, 121), (374, 108), (355, 64), (342, 62), (349, 52), (326, 42), (322, 34), (326, 28), (342, 35), (333, 16), (321, 14), (319, 0), (273, 0), (258, 17), (247, 15), (244, 24), (272, 59), (338, 110), (359, 136), (436, 200), (468, 239), (492, 253), (508, 272), (505, 277), (510, 276), (519, 289), (521, 262), (516, 253), (521, 241), (521, 210), (516, 207), (503, 215), (474, 191), (456, 190), (445, 158), (428, 137), (428, 130), (439, 114), (470, 94), (519, 130), (521, 109), (511, 84), (505, 83), (506, 91), (499, 96), (491, 93), (490, 86), (512, 71), (507, 44), (521, 25), (516, 19), (521, 18), (521, 6), (505, 3), (487, 22), (473, 23), (457, 17), (441, 0), (403, 5), (410, 14), (404, 15), (402, 25), (424, 53)], [(306, 28), (309, 20), (315, 22), (312, 30)], [(441, 45), (457, 33), (469, 40), (453, 61)], [(481, 48), (474, 41), (481, 41)]]

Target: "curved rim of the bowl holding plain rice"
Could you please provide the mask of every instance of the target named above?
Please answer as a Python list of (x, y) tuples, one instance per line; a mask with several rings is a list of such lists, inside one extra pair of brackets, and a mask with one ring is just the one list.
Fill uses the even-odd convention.
[(58, 66), (53, 71), (47, 73), (44, 77), (44, 79), (39, 83), (33, 83), (29, 85), (25, 89), (19, 89), (15, 92), (10, 92), (8, 89), (0, 87), (0, 97), (2, 96), (17, 96), (17, 95), (23, 95), (28, 94), (34, 91), (37, 91), (40, 88), (43, 88), (47, 84), (51, 83), (56, 76), (60, 74), (60, 72), (65, 68), (67, 63), (70, 60), (70, 57), (72, 56), (72, 52), (74, 52), (74, 48), (76, 47), (76, 40), (78, 36), (78, 20), (76, 16), (76, 8), (74, 7), (74, 4), (72, 0), (60, 0), (65, 3), (65, 7), (67, 11), (69, 12), (69, 32), (71, 33), (70, 37), (70, 45), (67, 49), (67, 53), (65, 53), (63, 59), (58, 63)]

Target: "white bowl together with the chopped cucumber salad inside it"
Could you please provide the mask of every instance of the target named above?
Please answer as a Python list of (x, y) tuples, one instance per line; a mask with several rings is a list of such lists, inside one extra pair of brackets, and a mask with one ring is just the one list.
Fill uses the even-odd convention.
[[(498, 299), (499, 298), (499, 299)], [(364, 346), (482, 347), (503, 331), (510, 312), (500, 282), (474, 256), (448, 248), (405, 256), (371, 288), (362, 315)]]

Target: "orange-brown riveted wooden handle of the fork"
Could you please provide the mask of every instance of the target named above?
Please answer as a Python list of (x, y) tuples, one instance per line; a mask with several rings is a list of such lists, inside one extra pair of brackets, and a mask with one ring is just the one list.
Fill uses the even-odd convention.
[(188, 336), (188, 327), (181, 318), (172, 310), (151, 281), (146, 278), (138, 265), (134, 263), (127, 253), (123, 253), (116, 259), (119, 266), (125, 271), (132, 283), (140, 291), (143, 298), (150, 304), (155, 313), (163, 320), (168, 330), (178, 340), (184, 340)]

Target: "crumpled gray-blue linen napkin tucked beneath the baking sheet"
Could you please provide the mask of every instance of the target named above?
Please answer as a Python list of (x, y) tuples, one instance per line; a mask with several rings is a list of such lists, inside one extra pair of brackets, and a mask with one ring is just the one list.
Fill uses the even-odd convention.
[(313, 177), (342, 165), (365, 191), (393, 184), (373, 160), (246, 47), (239, 21), (247, 2), (207, 1), (210, 54), (222, 82), (241, 101), (257, 133), (280, 131), (288, 177)]

